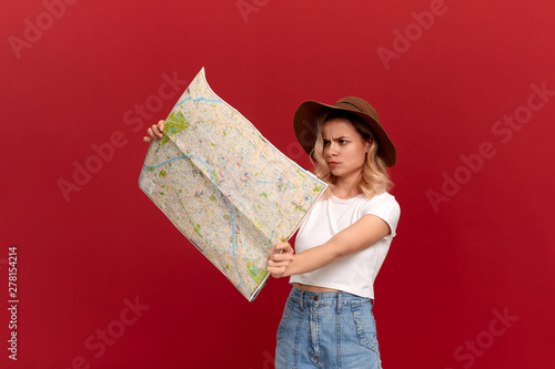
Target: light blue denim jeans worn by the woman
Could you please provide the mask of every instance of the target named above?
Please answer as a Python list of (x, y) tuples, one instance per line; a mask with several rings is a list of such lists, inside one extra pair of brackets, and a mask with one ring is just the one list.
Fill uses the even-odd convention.
[(369, 298), (293, 287), (276, 338), (276, 369), (382, 368)]

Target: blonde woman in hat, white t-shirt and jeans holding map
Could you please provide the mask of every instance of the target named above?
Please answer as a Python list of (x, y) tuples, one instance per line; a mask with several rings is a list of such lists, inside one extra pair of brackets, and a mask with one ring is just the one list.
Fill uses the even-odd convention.
[(276, 368), (381, 368), (374, 279), (400, 207), (387, 193), (396, 151), (359, 98), (301, 104), (295, 134), (330, 187), (301, 225), (296, 254), (275, 246), (268, 270), (293, 284), (278, 328)]

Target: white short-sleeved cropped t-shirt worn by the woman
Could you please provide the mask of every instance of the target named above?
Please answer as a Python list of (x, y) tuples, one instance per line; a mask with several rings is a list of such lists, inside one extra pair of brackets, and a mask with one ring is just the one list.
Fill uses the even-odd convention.
[(299, 228), (295, 253), (325, 244), (339, 232), (366, 214), (385, 221), (391, 233), (373, 245), (345, 256), (323, 268), (291, 276), (290, 283), (343, 290), (349, 294), (374, 298), (374, 280), (395, 236), (401, 208), (389, 193), (370, 199), (359, 195), (341, 199), (331, 196), (320, 199)]

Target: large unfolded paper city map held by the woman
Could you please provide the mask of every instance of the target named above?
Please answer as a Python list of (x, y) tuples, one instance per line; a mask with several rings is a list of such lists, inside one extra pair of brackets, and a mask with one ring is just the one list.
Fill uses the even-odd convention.
[(202, 69), (147, 153), (139, 186), (252, 301), (268, 256), (326, 184), (283, 155), (208, 85)]

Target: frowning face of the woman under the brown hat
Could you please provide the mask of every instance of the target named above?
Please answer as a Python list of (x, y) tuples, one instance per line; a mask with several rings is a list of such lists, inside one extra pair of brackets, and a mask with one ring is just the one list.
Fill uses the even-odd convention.
[(322, 126), (324, 160), (336, 177), (357, 177), (364, 165), (371, 141), (364, 141), (351, 121), (335, 117)]

